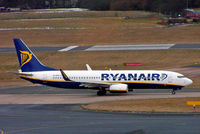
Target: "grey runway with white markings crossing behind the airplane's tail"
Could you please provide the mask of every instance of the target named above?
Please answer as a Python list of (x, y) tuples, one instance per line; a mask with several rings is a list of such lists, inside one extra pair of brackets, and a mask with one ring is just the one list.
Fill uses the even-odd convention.
[[(67, 51), (136, 51), (167, 49), (200, 49), (200, 44), (139, 44), (139, 45), (97, 45), (97, 46), (41, 46), (30, 47), (34, 52), (67, 52)], [(14, 47), (1, 47), (0, 53), (13, 53)]]

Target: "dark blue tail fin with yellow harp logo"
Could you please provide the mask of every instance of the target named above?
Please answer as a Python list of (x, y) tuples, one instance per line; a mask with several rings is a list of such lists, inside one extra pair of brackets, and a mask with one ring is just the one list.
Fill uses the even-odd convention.
[(56, 70), (44, 66), (21, 39), (13, 39), (22, 72)]

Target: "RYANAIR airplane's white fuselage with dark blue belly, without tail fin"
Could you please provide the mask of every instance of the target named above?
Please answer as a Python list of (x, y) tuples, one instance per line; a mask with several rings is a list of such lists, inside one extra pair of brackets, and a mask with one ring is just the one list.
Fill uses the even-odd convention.
[[(182, 74), (171, 71), (155, 70), (113, 70), (113, 71), (64, 71), (69, 81), (66, 81), (62, 73), (58, 71), (28, 72), (32, 76), (21, 76), (34, 83), (55, 85), (56, 87), (72, 88), (72, 83), (79, 86), (81, 83), (110, 83), (127, 84), (129, 88), (181, 88), (192, 83)], [(26, 72), (27, 74), (27, 72)], [(62, 83), (62, 84), (61, 84)], [(75, 85), (76, 85), (75, 84)], [(75, 88), (77, 88), (77, 86)]]

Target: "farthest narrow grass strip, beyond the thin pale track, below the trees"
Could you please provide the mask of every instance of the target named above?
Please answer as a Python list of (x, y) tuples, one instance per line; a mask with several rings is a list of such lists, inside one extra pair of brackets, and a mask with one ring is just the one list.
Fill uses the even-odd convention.
[(0, 20), (17, 19), (53, 19), (53, 18), (99, 18), (99, 17), (152, 17), (157, 13), (145, 11), (84, 11), (84, 12), (57, 12), (45, 10), (29, 10), (20, 13), (0, 14)]

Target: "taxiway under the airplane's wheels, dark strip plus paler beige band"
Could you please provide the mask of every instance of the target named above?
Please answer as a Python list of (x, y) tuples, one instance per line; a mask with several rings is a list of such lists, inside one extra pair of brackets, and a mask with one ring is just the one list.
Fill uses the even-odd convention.
[(200, 97), (200, 89), (183, 89), (171, 95), (168, 89), (138, 89), (128, 94), (97, 96), (90, 89), (59, 89), (46, 86), (0, 88), (0, 104), (88, 104), (130, 99)]

